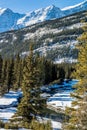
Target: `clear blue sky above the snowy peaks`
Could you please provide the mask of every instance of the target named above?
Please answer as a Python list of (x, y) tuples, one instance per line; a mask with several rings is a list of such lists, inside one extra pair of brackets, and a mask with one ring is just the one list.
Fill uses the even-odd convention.
[(10, 8), (14, 12), (25, 13), (52, 4), (59, 8), (63, 8), (83, 1), (84, 0), (0, 0), (0, 7)]

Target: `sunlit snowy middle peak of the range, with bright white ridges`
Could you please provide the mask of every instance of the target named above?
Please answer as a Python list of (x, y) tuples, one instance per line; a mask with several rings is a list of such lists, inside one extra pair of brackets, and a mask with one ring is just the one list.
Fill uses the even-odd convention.
[(43, 22), (45, 20), (60, 18), (63, 16), (63, 12), (58, 7), (52, 5), (27, 13), (23, 18), (20, 18), (17, 21), (17, 25), (19, 27), (25, 27), (31, 24)]

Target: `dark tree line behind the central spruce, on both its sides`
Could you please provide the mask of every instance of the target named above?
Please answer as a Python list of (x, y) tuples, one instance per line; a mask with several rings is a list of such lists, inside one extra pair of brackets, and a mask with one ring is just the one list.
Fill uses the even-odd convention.
[[(40, 79), (42, 84), (46, 85), (53, 81), (61, 82), (63, 79), (70, 78), (74, 70), (74, 64), (62, 63), (54, 64), (51, 60), (45, 57), (34, 55), (35, 64), (40, 68)], [(10, 89), (18, 90), (21, 88), (23, 79), (23, 69), (26, 66), (26, 59), (19, 55), (14, 58), (3, 59), (0, 56), (0, 94), (3, 95), (9, 92)]]

